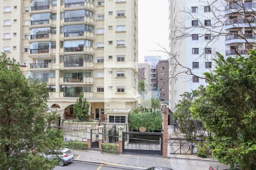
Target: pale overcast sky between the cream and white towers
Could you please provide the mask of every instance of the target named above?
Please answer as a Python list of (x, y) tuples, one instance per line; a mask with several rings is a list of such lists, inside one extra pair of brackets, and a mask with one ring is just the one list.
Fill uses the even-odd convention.
[(164, 56), (155, 52), (161, 48), (168, 49), (168, 0), (138, 0), (139, 25), (139, 61), (144, 56)]

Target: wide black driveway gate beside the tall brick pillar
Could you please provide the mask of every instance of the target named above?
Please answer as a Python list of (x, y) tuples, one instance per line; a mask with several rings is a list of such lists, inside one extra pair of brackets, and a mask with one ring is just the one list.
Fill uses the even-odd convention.
[(123, 132), (123, 152), (133, 154), (162, 155), (163, 134), (147, 132)]

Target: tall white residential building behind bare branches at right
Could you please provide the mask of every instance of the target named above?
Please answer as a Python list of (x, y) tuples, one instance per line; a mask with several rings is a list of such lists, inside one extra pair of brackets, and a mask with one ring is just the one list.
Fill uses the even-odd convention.
[[(209, 3), (206, 0), (169, 0), (171, 54), (176, 55), (181, 65), (202, 77), (203, 73), (213, 70), (215, 52), (220, 52), (224, 56), (247, 54), (253, 46), (238, 35), (246, 37), (248, 42), (255, 42), (255, 2), (221, 0)], [(216, 17), (213, 13), (220, 16)], [(185, 36), (180, 31), (184, 27), (188, 28), (185, 30)], [(211, 41), (219, 32), (222, 36)], [(225, 37), (225, 33), (228, 36)], [(238, 35), (234, 35), (237, 33)], [(184, 39), (174, 39), (178, 36), (183, 36)], [(187, 69), (172, 61), (170, 77), (176, 76), (170, 80), (171, 111), (174, 111), (175, 105), (181, 99), (180, 95), (184, 92), (196, 90), (200, 85), (207, 86), (205, 79), (185, 74), (183, 71)]]

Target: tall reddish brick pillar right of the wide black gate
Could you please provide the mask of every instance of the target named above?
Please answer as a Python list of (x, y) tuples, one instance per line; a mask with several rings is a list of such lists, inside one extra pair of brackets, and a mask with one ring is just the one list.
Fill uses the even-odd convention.
[(162, 156), (168, 156), (168, 108), (164, 108), (163, 114), (163, 153)]

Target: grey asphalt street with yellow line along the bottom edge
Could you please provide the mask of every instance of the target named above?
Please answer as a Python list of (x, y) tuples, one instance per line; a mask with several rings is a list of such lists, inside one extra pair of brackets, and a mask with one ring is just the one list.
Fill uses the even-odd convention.
[(82, 162), (71, 162), (64, 165), (63, 167), (57, 166), (54, 170), (62, 169), (86, 169), (86, 170), (142, 170), (141, 168), (129, 167), (126, 165), (115, 165), (115, 164), (94, 164), (94, 163), (82, 163)]

